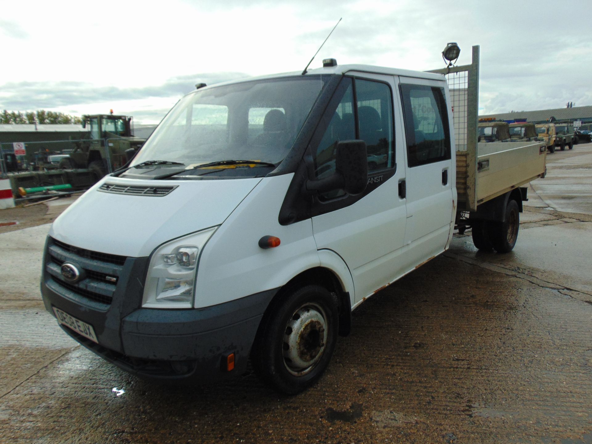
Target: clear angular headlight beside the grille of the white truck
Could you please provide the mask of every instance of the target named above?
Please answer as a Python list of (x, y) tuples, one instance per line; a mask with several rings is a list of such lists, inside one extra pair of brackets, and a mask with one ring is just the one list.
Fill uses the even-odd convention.
[(152, 254), (142, 307), (191, 308), (200, 250), (217, 227), (162, 244)]

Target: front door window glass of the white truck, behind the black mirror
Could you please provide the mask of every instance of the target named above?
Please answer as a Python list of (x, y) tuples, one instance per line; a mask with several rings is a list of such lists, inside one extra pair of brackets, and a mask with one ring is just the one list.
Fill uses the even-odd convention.
[[(317, 179), (335, 172), (336, 148), (340, 140), (361, 139), (366, 142), (369, 174), (395, 166), (390, 87), (386, 83), (358, 79), (355, 81), (355, 99), (352, 79), (344, 81), (349, 82), (349, 86), (332, 114), (324, 117), (329, 123), (313, 155)], [(353, 109), (354, 103), (356, 110)], [(354, 111), (358, 114), (357, 135)], [(325, 198), (340, 195), (343, 195), (342, 191)]]

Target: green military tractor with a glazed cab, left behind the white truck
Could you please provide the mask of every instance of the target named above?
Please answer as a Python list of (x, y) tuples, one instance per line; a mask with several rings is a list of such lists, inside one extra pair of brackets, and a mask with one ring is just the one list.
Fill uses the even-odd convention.
[[(97, 179), (121, 168), (140, 149), (146, 139), (131, 134), (131, 117), (126, 115), (83, 115), (82, 127), (89, 128), (88, 141), (60, 160), (60, 168), (88, 168)], [(108, 148), (108, 149), (107, 149)]]

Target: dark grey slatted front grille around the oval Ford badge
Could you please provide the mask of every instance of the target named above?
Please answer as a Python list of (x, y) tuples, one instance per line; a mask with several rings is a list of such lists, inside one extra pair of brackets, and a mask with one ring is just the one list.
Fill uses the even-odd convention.
[[(47, 247), (46, 260), (46, 271), (52, 281), (89, 300), (111, 304), (126, 257), (77, 248), (55, 239), (52, 241)], [(65, 262), (75, 263), (81, 268), (82, 278), (79, 281), (69, 282), (63, 277), (61, 267)]]

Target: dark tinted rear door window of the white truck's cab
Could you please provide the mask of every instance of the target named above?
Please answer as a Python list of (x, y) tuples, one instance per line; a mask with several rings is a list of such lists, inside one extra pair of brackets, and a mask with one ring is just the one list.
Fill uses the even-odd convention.
[(451, 158), (448, 112), (442, 88), (401, 84), (410, 167)]

